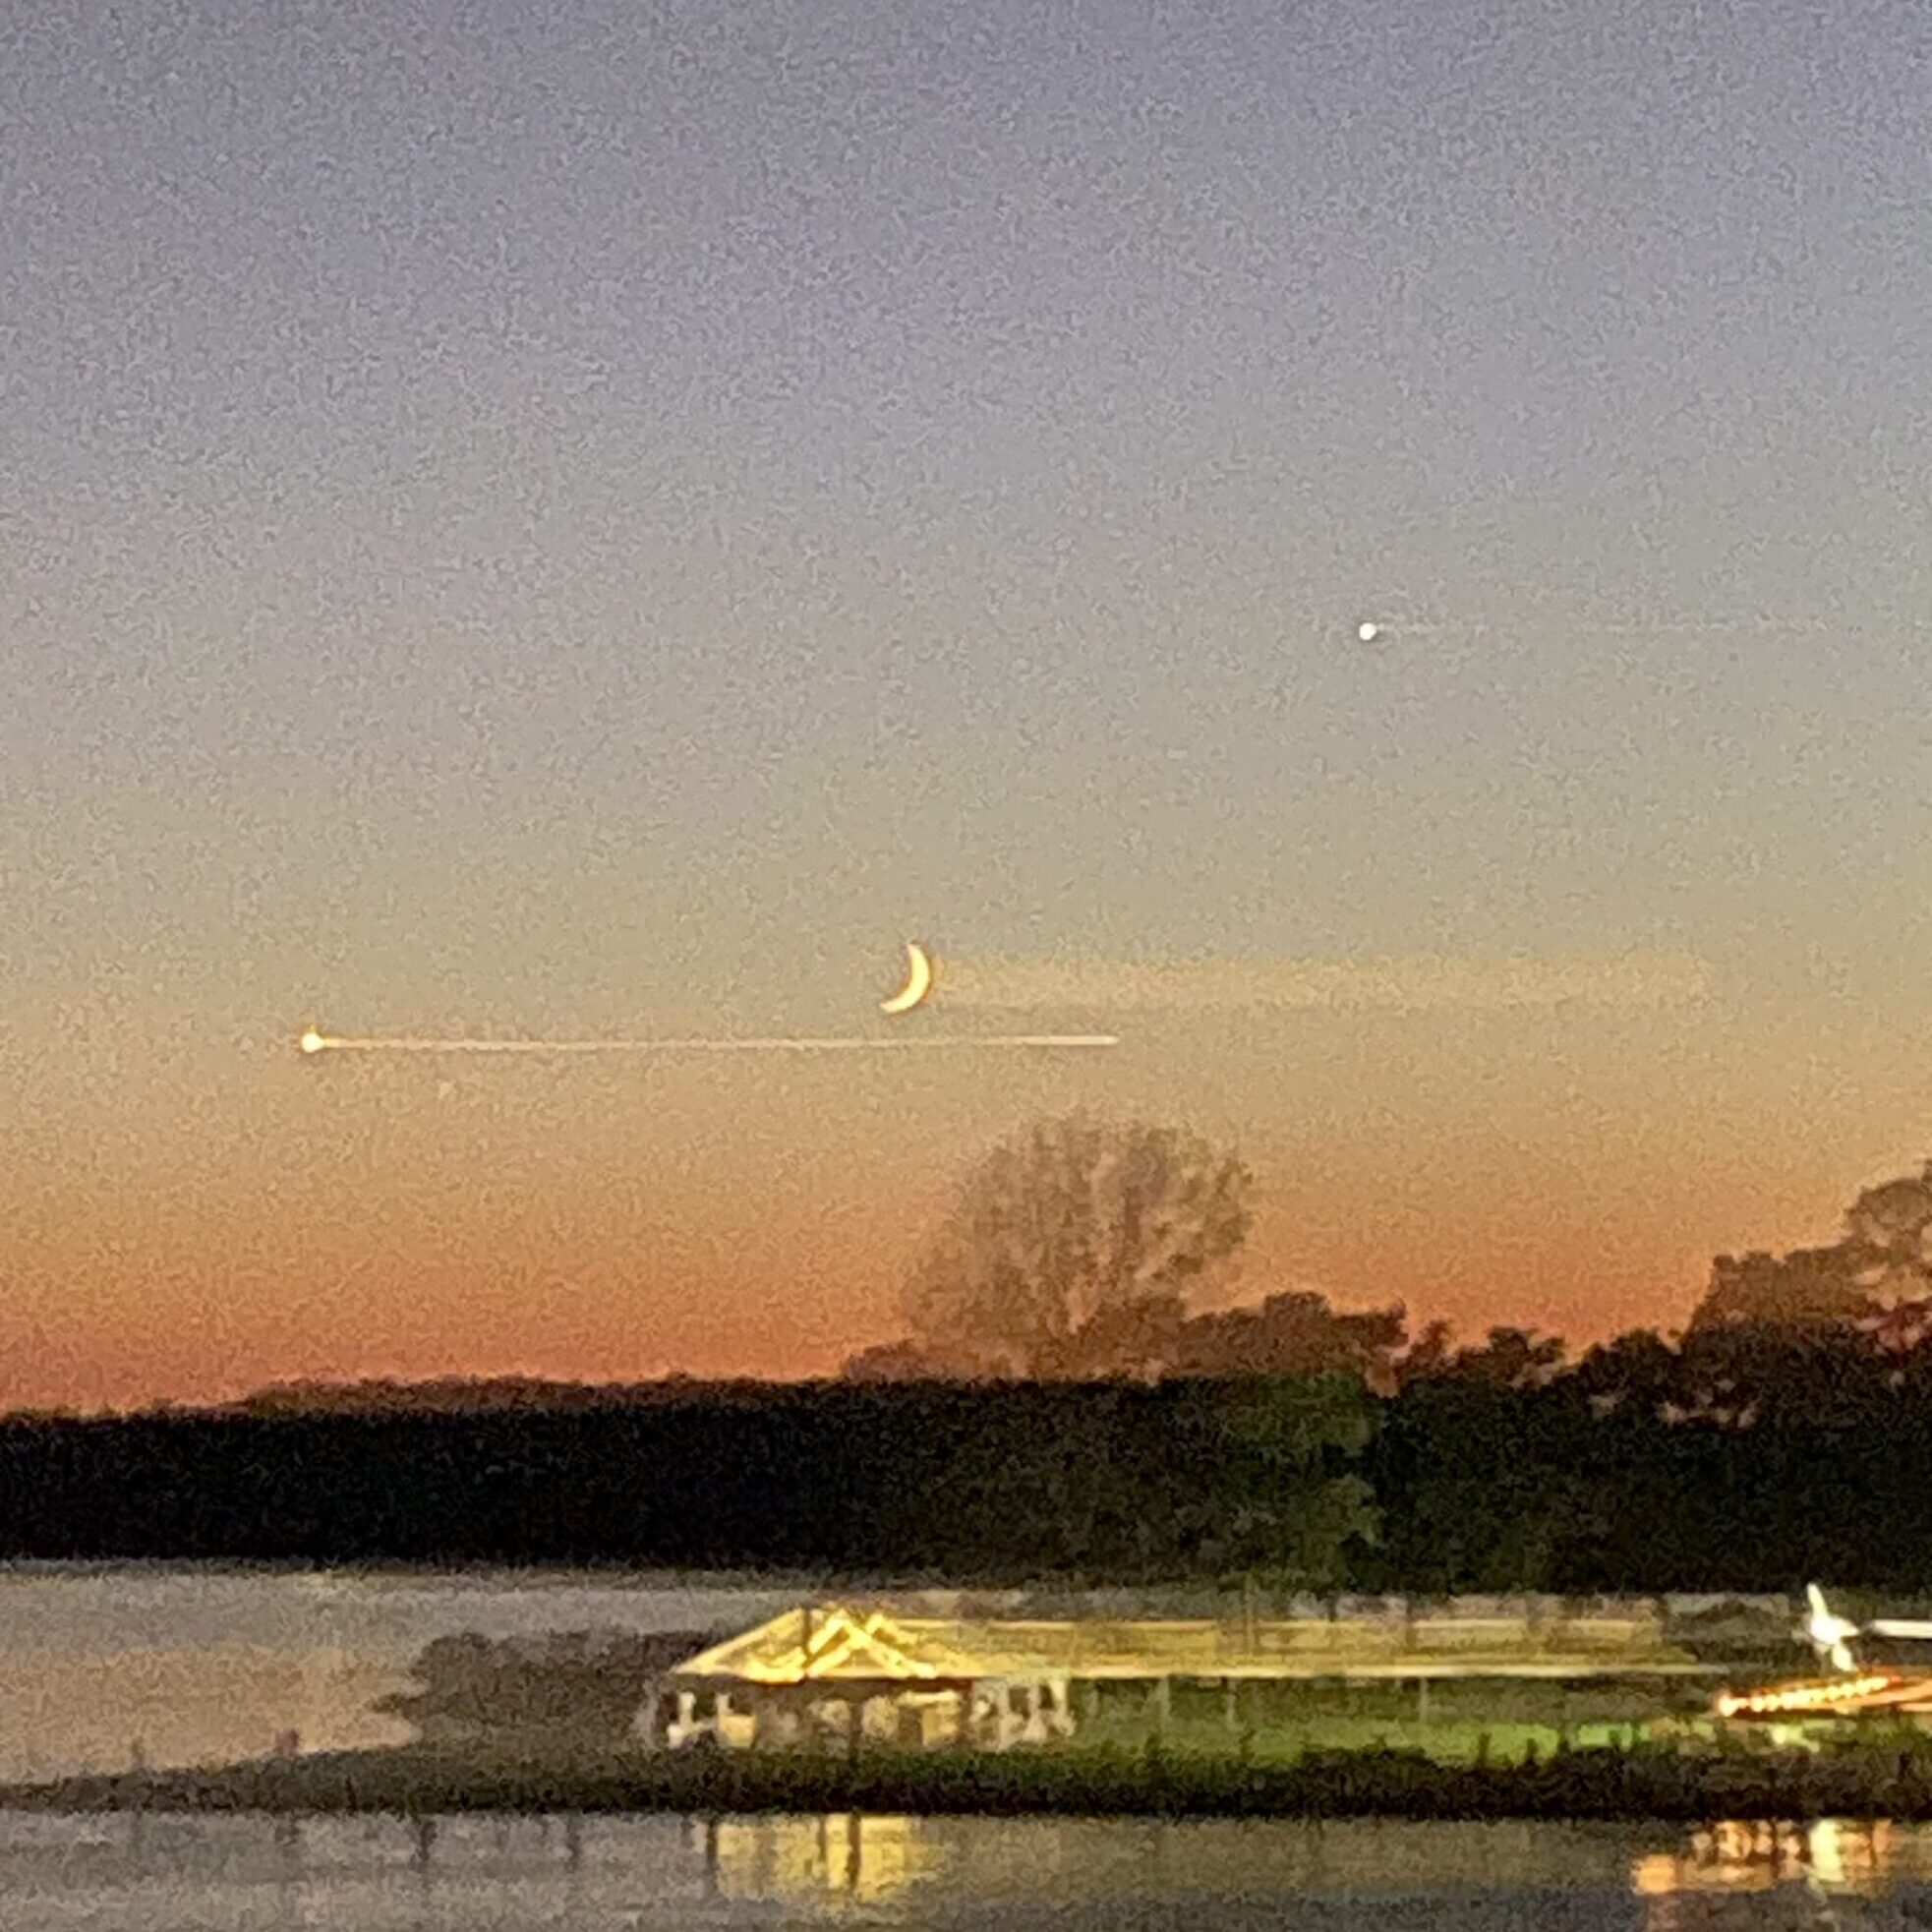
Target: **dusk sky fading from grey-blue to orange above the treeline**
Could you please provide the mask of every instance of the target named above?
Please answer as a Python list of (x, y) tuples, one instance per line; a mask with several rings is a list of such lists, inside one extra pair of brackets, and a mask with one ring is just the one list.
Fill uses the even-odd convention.
[[(1828, 1235), (1932, 1151), (1928, 50), (15, 8), (0, 1403), (825, 1370), (1076, 1101), (1242, 1144), (1231, 1294), (1592, 1335)], [(864, 1030), (908, 933), (1126, 1045), (290, 1047)], [(1708, 997), (1265, 997), (1631, 949)]]

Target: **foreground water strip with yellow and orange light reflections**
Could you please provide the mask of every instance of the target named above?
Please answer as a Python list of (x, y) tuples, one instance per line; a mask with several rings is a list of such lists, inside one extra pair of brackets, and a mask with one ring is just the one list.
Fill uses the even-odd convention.
[(1932, 1924), (1932, 1835), (1812, 1826), (1242, 1826), (775, 1818), (0, 1820), (35, 1932), (1779, 1932)]

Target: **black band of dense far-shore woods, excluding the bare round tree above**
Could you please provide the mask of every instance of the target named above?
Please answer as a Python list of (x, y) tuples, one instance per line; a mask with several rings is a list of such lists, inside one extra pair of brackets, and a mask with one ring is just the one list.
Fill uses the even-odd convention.
[(1565, 1366), (1495, 1331), (1370, 1376), (483, 1383), (17, 1416), (0, 1555), (1932, 1592), (1924, 1333), (1731, 1321)]

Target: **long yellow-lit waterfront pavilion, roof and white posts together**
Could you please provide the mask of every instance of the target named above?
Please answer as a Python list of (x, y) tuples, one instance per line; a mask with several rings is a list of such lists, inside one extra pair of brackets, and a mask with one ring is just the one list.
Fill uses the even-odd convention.
[(1175, 1694), (1219, 1692), (1231, 1731), (1250, 1685), (1381, 1687), (1416, 1721), (1449, 1685), (1692, 1690), (1721, 1665), (1671, 1642), (1654, 1613), (1376, 1619), (922, 1617), (806, 1604), (668, 1669), (641, 1729), (663, 1748), (759, 1748), (873, 1737), (981, 1748), (1076, 1737), (1130, 1689), (1155, 1729)]

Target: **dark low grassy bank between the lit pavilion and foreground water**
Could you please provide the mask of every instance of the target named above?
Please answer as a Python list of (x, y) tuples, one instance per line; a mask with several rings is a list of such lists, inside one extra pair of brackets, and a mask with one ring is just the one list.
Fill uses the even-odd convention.
[(1472, 1766), (1399, 1750), (1244, 1764), (1107, 1748), (867, 1752), (858, 1762), (715, 1754), (483, 1762), (396, 1747), (6, 1785), (0, 1812), (1924, 1822), (1932, 1754), (1872, 1743), (1818, 1754), (1588, 1748)]

